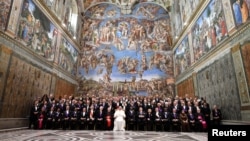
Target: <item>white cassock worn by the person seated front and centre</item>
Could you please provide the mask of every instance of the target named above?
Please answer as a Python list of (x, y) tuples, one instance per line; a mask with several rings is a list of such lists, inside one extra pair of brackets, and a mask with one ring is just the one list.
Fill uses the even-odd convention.
[(114, 114), (114, 131), (125, 131), (125, 112), (123, 110), (116, 110)]

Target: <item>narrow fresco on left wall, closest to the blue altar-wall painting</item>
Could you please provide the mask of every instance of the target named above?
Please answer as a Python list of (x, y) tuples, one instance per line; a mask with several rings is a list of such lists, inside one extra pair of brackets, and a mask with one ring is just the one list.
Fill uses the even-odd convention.
[(59, 49), (59, 66), (72, 75), (76, 75), (78, 51), (65, 38), (61, 39)]

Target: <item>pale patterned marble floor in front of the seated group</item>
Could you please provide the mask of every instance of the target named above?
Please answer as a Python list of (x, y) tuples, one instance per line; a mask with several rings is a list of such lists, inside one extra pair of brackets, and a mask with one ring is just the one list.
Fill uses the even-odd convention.
[(207, 133), (86, 130), (0, 132), (1, 141), (207, 141)]

